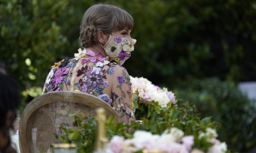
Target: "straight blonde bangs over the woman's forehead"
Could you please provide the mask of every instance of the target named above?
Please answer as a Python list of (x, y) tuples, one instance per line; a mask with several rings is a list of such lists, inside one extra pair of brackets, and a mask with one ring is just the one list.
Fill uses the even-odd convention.
[(113, 11), (113, 22), (112, 29), (113, 32), (120, 31), (123, 29), (132, 30), (133, 29), (133, 18), (126, 11), (116, 7), (117, 9)]

